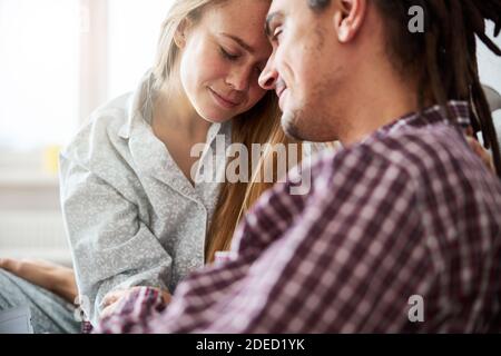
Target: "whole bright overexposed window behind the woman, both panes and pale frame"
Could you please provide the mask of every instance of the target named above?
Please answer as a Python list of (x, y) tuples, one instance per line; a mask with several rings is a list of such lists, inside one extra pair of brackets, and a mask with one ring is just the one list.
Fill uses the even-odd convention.
[(0, 154), (65, 145), (96, 107), (134, 90), (170, 4), (0, 0)]

